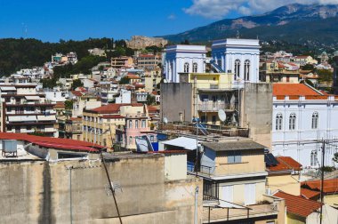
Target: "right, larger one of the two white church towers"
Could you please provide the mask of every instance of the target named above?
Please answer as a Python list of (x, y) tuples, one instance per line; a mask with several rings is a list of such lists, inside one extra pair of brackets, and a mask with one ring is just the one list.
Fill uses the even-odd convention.
[(216, 40), (212, 57), (224, 72), (234, 74), (234, 81), (259, 83), (260, 48), (255, 39)]

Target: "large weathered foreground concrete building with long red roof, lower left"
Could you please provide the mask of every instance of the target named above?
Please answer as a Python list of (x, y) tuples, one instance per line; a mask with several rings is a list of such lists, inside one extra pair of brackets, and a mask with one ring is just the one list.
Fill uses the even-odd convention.
[(202, 194), (197, 193), (202, 181), (176, 169), (186, 166), (184, 152), (104, 153), (107, 174), (98, 159), (102, 147), (91, 142), (60, 144), (58, 139), (9, 133), (0, 133), (0, 139), (0, 146), (3, 140), (15, 140), (26, 155), (1, 156), (4, 223), (119, 223), (117, 206), (123, 223), (202, 223)]

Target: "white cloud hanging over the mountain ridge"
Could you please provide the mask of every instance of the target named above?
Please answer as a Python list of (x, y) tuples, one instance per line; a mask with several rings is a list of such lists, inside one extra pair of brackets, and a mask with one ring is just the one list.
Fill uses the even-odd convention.
[(221, 19), (229, 12), (243, 15), (269, 12), (286, 4), (338, 4), (338, 0), (192, 0), (192, 5), (183, 9), (190, 15)]

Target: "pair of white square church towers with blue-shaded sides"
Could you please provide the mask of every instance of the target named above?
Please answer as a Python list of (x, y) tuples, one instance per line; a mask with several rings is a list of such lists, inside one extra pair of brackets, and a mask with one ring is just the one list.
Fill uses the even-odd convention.
[(260, 44), (255, 39), (228, 38), (213, 41), (212, 59), (203, 45), (173, 45), (165, 49), (165, 79), (179, 83), (180, 73), (205, 73), (205, 64), (214, 63), (221, 72), (232, 73), (233, 83), (258, 83)]

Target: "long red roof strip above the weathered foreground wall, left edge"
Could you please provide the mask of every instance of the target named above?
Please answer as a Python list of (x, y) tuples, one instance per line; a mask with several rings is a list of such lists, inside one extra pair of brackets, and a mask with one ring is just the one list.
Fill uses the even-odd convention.
[[(0, 140), (26, 140), (36, 145), (48, 148), (61, 148), (69, 150), (97, 151), (95, 148), (103, 148), (100, 145), (82, 140), (68, 140), (51, 137), (28, 135), (24, 133), (0, 132)], [(94, 147), (94, 148), (93, 148)]]

